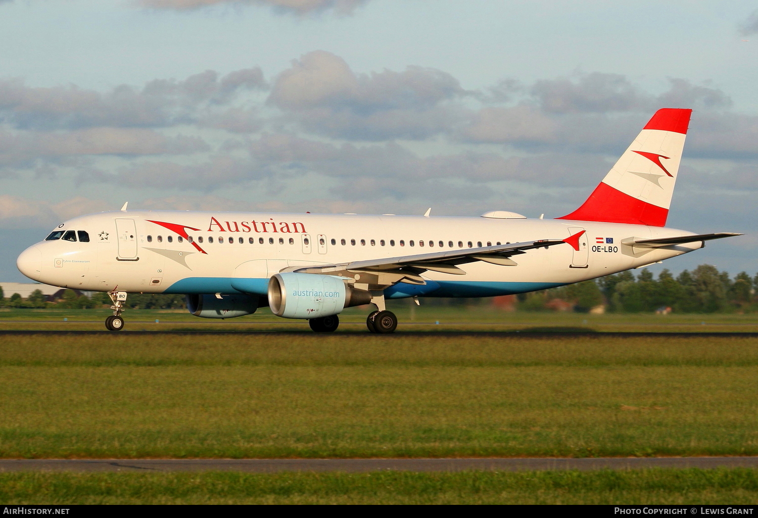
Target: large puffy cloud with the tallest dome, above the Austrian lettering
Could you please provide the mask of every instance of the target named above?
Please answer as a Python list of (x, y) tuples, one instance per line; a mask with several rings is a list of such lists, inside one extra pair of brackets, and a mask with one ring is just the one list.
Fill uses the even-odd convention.
[(454, 126), (470, 95), (433, 68), (356, 74), (340, 57), (313, 51), (280, 73), (268, 102), (311, 132), (349, 140), (424, 139)]

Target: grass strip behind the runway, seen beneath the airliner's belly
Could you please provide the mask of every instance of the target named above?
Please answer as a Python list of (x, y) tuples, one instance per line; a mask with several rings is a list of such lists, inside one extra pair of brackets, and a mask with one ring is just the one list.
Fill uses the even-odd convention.
[[(584, 329), (609, 332), (758, 332), (758, 314), (581, 314), (509, 313), (490, 305), (415, 307), (407, 301), (389, 301), (399, 318), (400, 332), (529, 331)], [(340, 314), (340, 329), (365, 331), (368, 307), (349, 307)], [(98, 330), (105, 329), (110, 310), (14, 310), (0, 309), (0, 330)], [(268, 307), (247, 317), (215, 320), (194, 317), (186, 310), (127, 310), (126, 331), (309, 331), (305, 320), (275, 317)], [(64, 319), (66, 319), (64, 321)], [(158, 322), (155, 322), (158, 320)]]

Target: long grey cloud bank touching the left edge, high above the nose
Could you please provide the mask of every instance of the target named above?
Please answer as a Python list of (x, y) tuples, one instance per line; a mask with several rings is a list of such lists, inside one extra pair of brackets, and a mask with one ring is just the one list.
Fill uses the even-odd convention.
[(173, 126), (192, 123), (205, 105), (222, 105), (239, 92), (263, 89), (268, 84), (259, 67), (221, 79), (207, 70), (183, 81), (153, 80), (142, 89), (121, 85), (106, 93), (73, 85), (30, 87), (10, 79), (0, 81), (0, 121), (23, 130)]

